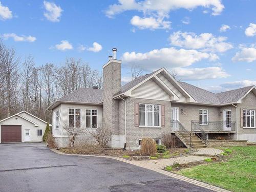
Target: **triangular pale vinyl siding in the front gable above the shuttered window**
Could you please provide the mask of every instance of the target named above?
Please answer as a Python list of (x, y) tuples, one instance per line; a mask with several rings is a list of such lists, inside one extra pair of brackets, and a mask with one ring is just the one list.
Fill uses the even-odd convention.
[(170, 101), (170, 96), (153, 79), (144, 82), (133, 90), (131, 97)]

